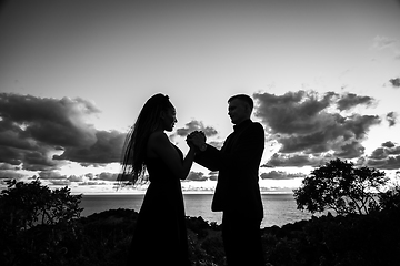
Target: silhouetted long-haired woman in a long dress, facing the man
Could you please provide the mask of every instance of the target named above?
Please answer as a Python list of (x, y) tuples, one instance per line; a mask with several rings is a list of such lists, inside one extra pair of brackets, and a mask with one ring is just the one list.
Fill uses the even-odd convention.
[(169, 98), (151, 96), (143, 105), (127, 137), (120, 181), (133, 184), (149, 173), (149, 187), (133, 233), (128, 265), (190, 265), (183, 196), (184, 180), (194, 158), (194, 147), (187, 156), (173, 145), (164, 131), (177, 123)]

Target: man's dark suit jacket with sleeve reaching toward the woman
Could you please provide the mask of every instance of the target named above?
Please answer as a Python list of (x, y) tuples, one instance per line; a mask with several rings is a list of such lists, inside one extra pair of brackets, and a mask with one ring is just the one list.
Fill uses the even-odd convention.
[(211, 209), (262, 219), (259, 166), (264, 149), (264, 131), (251, 120), (233, 126), (221, 150), (211, 145), (197, 153), (194, 162), (219, 171)]

